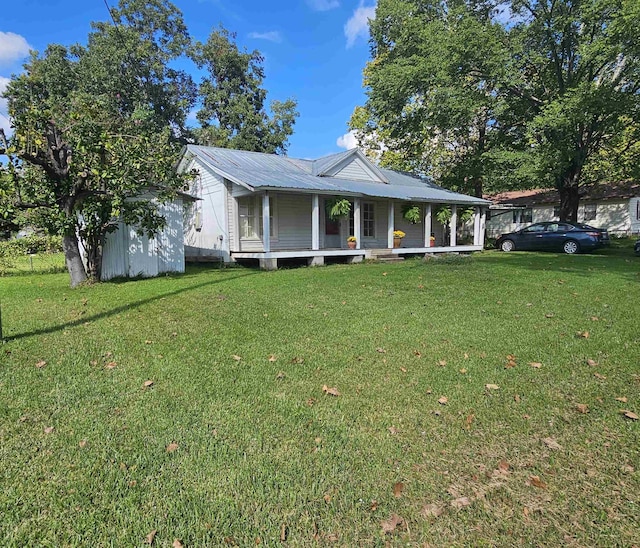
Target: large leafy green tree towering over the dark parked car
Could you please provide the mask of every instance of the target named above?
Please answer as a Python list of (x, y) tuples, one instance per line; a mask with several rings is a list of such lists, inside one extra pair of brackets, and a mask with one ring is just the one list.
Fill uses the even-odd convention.
[(638, 23), (632, 0), (380, 0), (351, 125), (447, 186), (555, 186), (576, 220), (594, 164), (640, 137)]

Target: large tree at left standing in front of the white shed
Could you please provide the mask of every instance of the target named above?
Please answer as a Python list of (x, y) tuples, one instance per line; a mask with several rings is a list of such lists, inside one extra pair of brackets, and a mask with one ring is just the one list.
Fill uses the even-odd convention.
[[(14, 133), (2, 135), (4, 209), (62, 234), (71, 285), (99, 278), (105, 235), (119, 220), (154, 232), (164, 219), (149, 201), (184, 186), (175, 164), (190, 77), (167, 68), (189, 43), (180, 12), (163, 0), (122, 0), (113, 24), (95, 23), (88, 44), (32, 53), (5, 93)], [(86, 251), (82, 261), (78, 237)]]

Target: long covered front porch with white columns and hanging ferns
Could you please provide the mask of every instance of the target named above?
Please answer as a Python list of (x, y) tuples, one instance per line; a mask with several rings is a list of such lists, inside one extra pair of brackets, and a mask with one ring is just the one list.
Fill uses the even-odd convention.
[[(458, 211), (468, 208), (468, 204), (412, 201), (419, 207), (420, 219), (410, 223), (401, 213), (407, 201), (346, 196), (351, 204), (349, 215), (332, 222), (326, 207), (332, 196), (266, 190), (253, 198), (261, 209), (259, 215), (254, 212), (253, 222), (259, 217), (261, 226), (250, 231), (248, 210), (239, 198), (237, 238), (231, 258), (258, 260), (260, 267), (267, 270), (276, 269), (279, 260), (288, 259), (306, 259), (309, 265), (322, 265), (327, 258), (340, 257), (352, 263), (382, 254), (400, 257), (466, 253), (481, 251), (484, 246), (486, 208), (478, 205), (473, 206), (472, 238), (459, 243)], [(434, 219), (436, 208), (442, 206), (450, 208), (445, 225)], [(295, 227), (293, 235), (291, 227)], [(406, 235), (399, 242), (394, 237), (397, 230)], [(355, 239), (353, 249), (348, 246), (349, 236)]]

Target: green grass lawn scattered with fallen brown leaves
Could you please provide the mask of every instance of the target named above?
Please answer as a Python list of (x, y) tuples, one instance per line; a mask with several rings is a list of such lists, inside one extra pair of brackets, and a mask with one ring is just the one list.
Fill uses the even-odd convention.
[(640, 544), (625, 245), (0, 278), (0, 545)]

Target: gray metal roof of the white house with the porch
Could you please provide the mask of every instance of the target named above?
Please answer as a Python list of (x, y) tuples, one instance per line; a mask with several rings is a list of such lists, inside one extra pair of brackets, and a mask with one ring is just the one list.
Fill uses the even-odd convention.
[(335, 166), (342, 159), (353, 154), (352, 151), (332, 154), (313, 161), (261, 152), (198, 145), (189, 145), (187, 150), (188, 153), (199, 158), (202, 163), (219, 175), (256, 190), (287, 189), (331, 195), (465, 205), (487, 205), (490, 203), (481, 198), (447, 190), (415, 175), (381, 169), (373, 164), (374, 171), (379, 170), (387, 182), (314, 175), (314, 173), (323, 173)]

